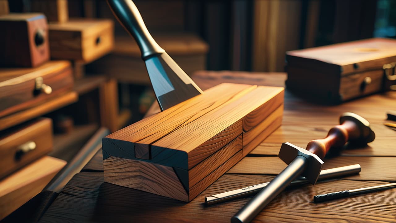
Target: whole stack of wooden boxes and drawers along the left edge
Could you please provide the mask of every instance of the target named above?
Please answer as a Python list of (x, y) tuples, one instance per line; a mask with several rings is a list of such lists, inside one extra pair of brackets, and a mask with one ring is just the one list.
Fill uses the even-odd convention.
[[(4, 6), (4, 5), (1, 5)], [(3, 11), (4, 12), (4, 11)], [(52, 120), (36, 117), (77, 100), (68, 61), (50, 58), (41, 13), (0, 15), (0, 219), (44, 188), (66, 164), (53, 149)]]

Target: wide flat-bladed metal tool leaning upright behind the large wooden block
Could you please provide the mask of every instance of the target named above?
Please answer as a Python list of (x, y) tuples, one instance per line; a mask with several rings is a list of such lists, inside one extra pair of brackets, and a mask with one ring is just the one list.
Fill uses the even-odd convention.
[(107, 3), (121, 25), (135, 38), (162, 111), (203, 93), (155, 42), (131, 0), (107, 0)]

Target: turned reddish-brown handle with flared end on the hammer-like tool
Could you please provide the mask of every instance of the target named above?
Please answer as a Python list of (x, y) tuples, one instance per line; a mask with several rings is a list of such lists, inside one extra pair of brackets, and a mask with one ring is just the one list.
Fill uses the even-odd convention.
[(326, 138), (315, 139), (308, 143), (307, 150), (323, 159), (330, 148), (340, 148), (346, 142), (372, 142), (375, 138), (370, 123), (355, 113), (346, 112), (340, 117), (340, 125), (331, 128)]

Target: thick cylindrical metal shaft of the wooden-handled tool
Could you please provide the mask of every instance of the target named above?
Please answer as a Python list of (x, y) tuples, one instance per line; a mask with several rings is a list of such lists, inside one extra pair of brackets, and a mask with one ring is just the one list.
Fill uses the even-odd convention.
[(231, 218), (231, 223), (250, 222), (253, 220), (293, 179), (301, 175), (305, 170), (307, 162), (308, 160), (305, 157), (296, 156), (279, 175)]

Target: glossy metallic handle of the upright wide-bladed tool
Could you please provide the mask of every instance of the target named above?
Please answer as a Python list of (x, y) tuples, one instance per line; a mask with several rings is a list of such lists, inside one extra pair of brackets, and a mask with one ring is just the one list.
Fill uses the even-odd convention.
[(143, 60), (165, 52), (148, 32), (139, 10), (131, 0), (107, 0), (107, 4), (122, 26), (135, 38)]

